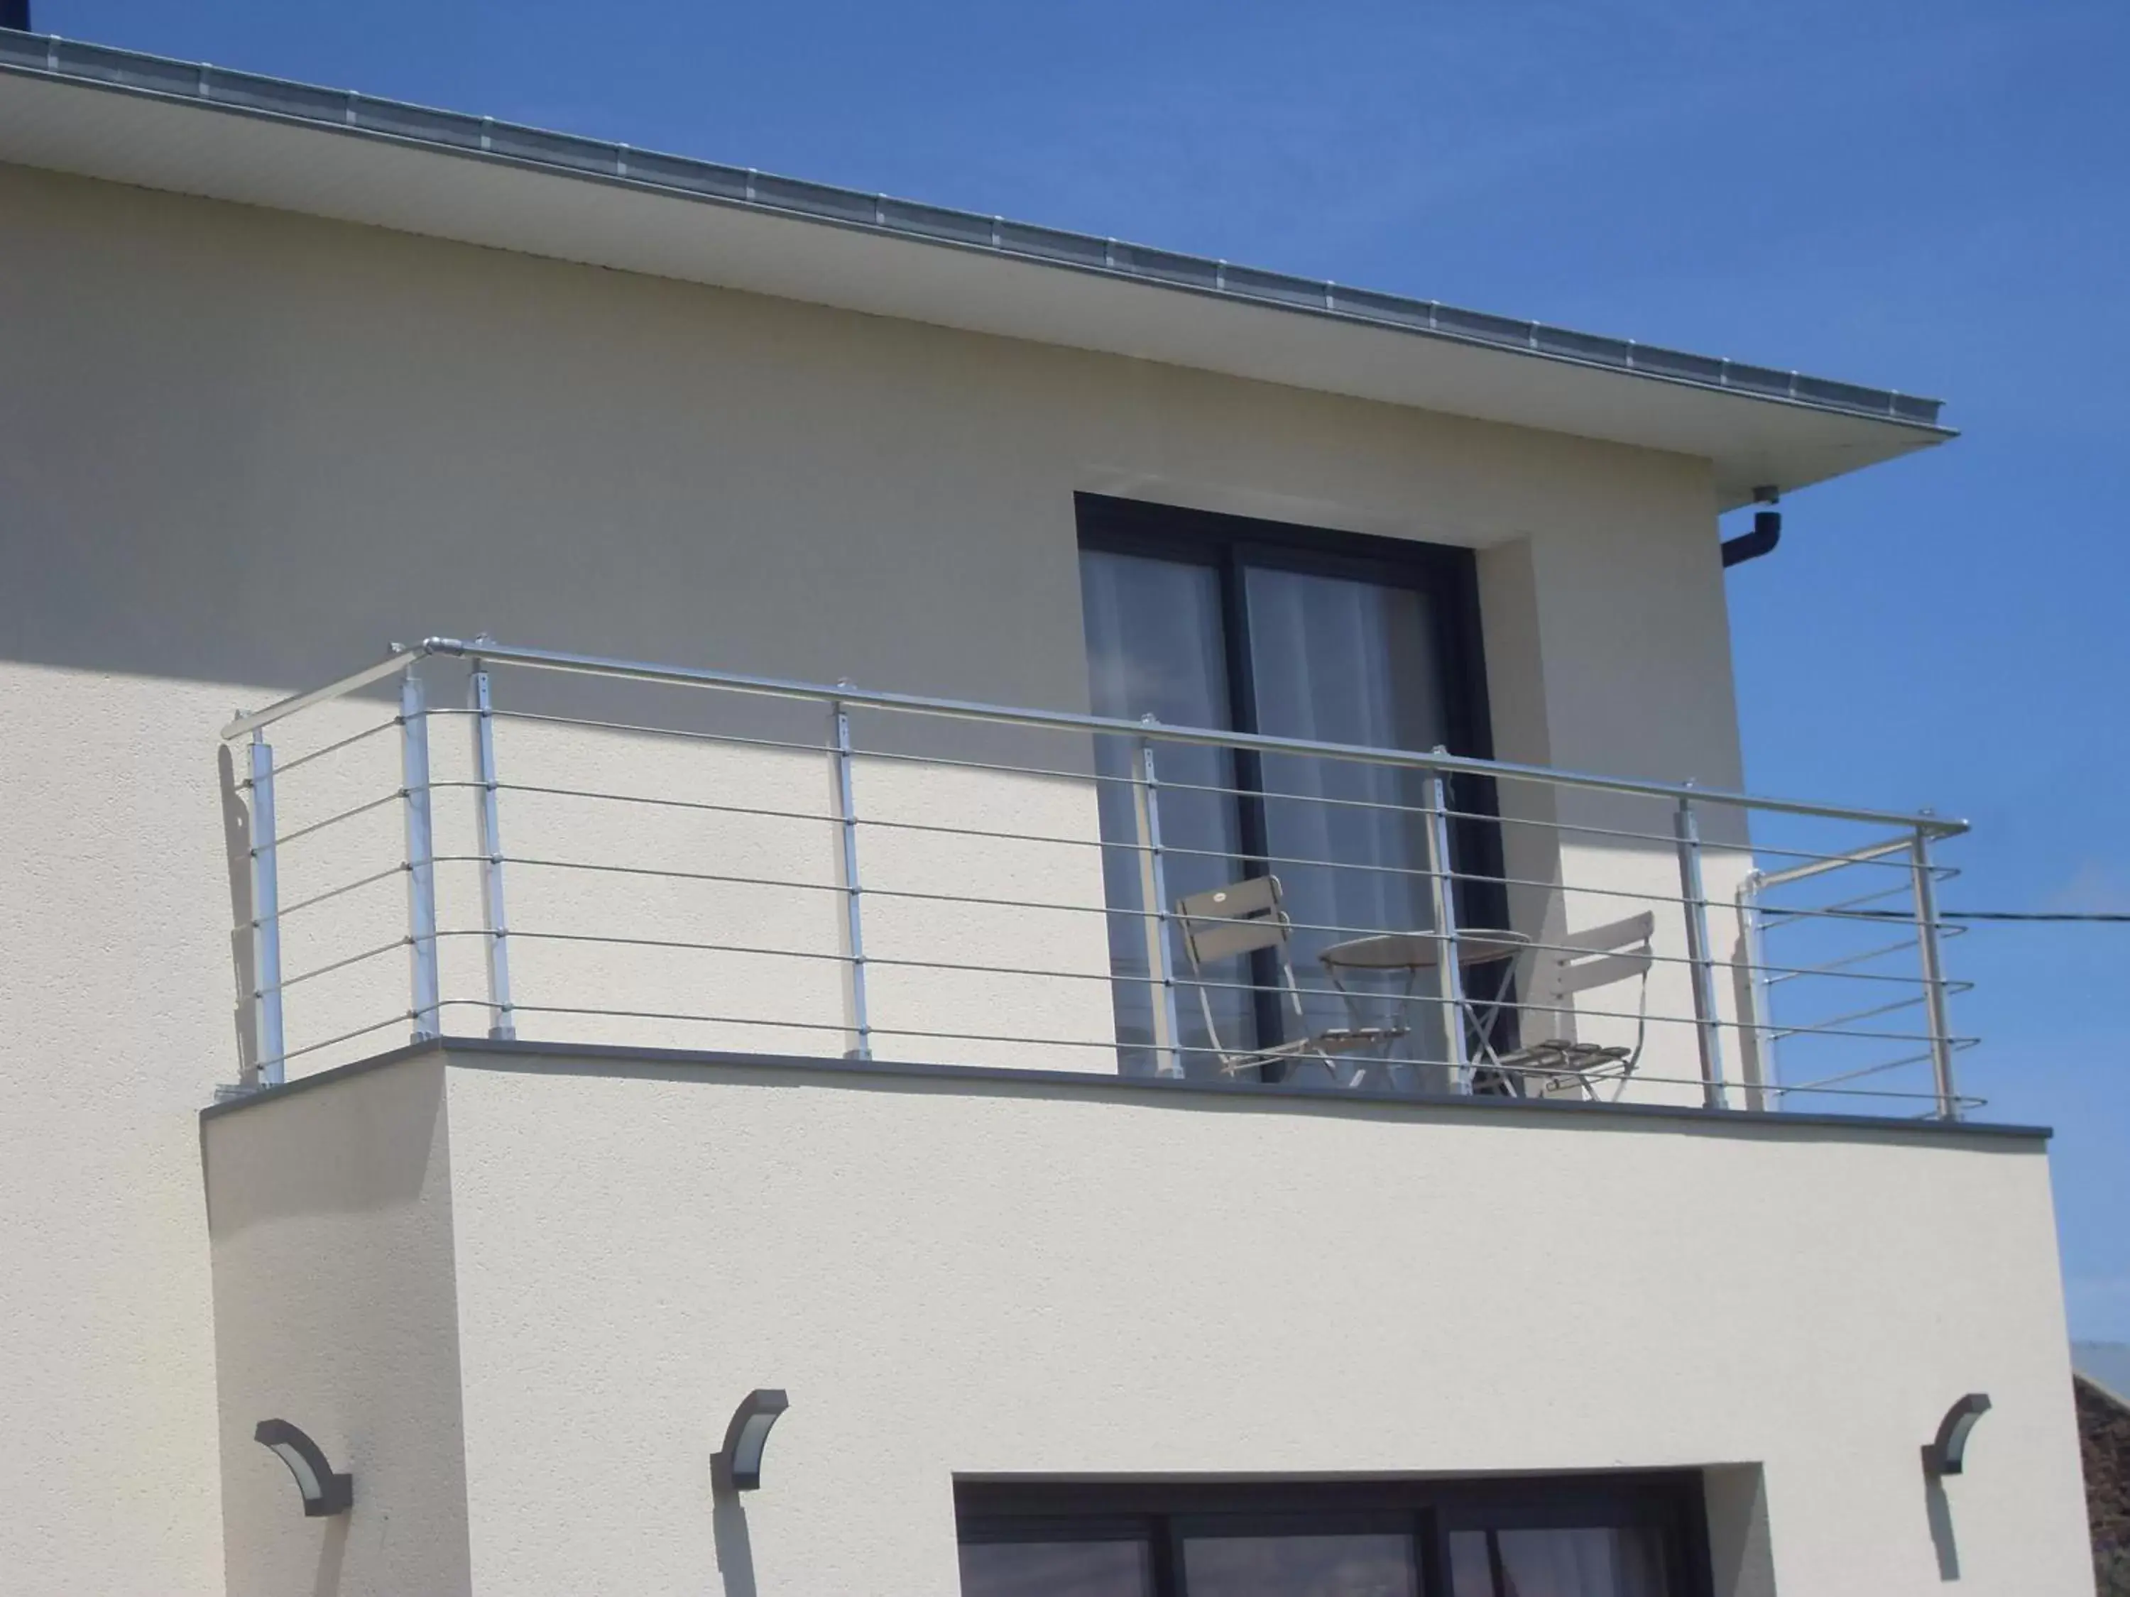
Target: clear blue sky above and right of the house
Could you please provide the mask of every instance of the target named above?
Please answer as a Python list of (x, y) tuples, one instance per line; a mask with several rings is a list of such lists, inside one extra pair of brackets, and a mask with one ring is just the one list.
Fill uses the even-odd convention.
[[(1764, 792), (1934, 805), (1947, 907), (2130, 909), (2130, 6), (34, 0), (40, 30), (1938, 394), (1730, 577)], [(1951, 950), (2130, 1339), (2130, 926)]]

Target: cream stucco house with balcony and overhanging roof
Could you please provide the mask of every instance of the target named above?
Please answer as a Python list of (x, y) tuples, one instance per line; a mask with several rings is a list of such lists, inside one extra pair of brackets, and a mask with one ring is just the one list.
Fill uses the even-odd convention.
[(19, 32), (0, 330), (0, 1593), (2092, 1591), (1934, 400)]

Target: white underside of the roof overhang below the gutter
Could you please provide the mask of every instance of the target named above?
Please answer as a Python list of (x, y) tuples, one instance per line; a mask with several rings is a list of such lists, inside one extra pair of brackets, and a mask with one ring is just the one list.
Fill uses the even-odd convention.
[[(1747, 392), (1725, 385), (1723, 362), (1706, 362), (1713, 381), (1691, 381), (1621, 368), (1617, 353), (1585, 360), (1414, 326), (1414, 302), (1329, 283), (1321, 304), (1274, 302), (1218, 279), (1020, 253), (1001, 247), (1003, 224), (988, 241), (918, 236), (863, 215), (675, 190), (628, 172), (626, 155), (613, 172), (562, 168), (53, 72), (0, 70), (0, 160), (1695, 456), (1713, 464), (1723, 507), (1762, 483), (1791, 492), (1953, 437), (1766, 392), (1757, 368), (1759, 390)], [(1534, 343), (1546, 332), (1502, 326), (1531, 326)]]

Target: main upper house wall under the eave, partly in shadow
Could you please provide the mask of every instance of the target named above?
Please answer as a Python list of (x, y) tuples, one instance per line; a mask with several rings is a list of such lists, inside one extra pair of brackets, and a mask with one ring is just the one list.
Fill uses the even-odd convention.
[[(0, 260), (0, 1569), (28, 1588), (222, 1580), (190, 1116), (236, 1069), (234, 705), (488, 628), (1082, 707), (1071, 494), (1099, 490), (1480, 547), (1504, 754), (1736, 779), (1693, 460), (19, 168)], [(334, 781), (283, 822), (375, 792)], [(313, 952), (398, 913), (343, 903)], [(377, 1014), (317, 994), (313, 1035)]]

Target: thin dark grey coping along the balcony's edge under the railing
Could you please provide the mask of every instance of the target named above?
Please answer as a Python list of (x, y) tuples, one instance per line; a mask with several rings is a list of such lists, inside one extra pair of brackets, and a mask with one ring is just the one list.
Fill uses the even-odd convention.
[(1212, 1097), (1242, 1101), (1276, 1109), (1340, 1109), (1348, 1105), (1393, 1107), (1393, 1109), (1448, 1109), (1453, 1114), (1508, 1114), (1508, 1116), (1583, 1116), (1595, 1122), (1617, 1124), (1621, 1120), (1676, 1120), (1719, 1133), (1781, 1133), (1781, 1131), (1851, 1131), (1877, 1137), (1981, 1137), (1989, 1141), (2047, 1143), (2055, 1137), (2053, 1126), (2019, 1126), (1977, 1120), (1906, 1120), (1868, 1114), (1823, 1114), (1823, 1112), (1755, 1112), (1755, 1109), (1706, 1109), (1691, 1103), (1561, 1103), (1546, 1099), (1491, 1099), (1463, 1097), (1453, 1092), (1382, 1092), (1378, 1088), (1342, 1088), (1325, 1092), (1321, 1088), (1246, 1084), (1246, 1082), (1180, 1082), (1154, 1075), (1105, 1075), (1097, 1071), (1042, 1071), (1014, 1069), (1005, 1065), (922, 1065), (878, 1058), (829, 1058), (818, 1054), (735, 1054), (697, 1048), (630, 1048), (622, 1043), (541, 1043), (541, 1041), (498, 1041), (490, 1037), (430, 1037), (405, 1043), (383, 1054), (334, 1065), (315, 1075), (300, 1075), (281, 1086), (260, 1088), (200, 1109), (200, 1120), (215, 1120), (236, 1114), (258, 1103), (285, 1099), (315, 1086), (345, 1082), (351, 1075), (403, 1065), (426, 1054), (443, 1054), (445, 1065), (466, 1069), (509, 1071), (535, 1060), (588, 1060), (611, 1065), (675, 1065), (675, 1067), (733, 1067), (750, 1071), (790, 1071), (805, 1075), (841, 1075), (863, 1082), (950, 1082), (984, 1088), (1078, 1088), (1088, 1092), (1125, 1092), (1135, 1097), (1182, 1094), (1184, 1099)]

